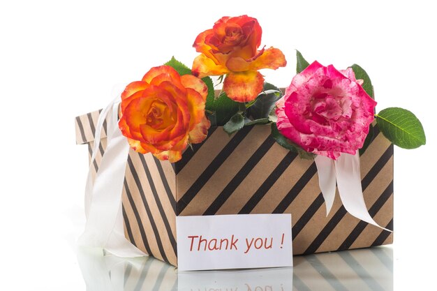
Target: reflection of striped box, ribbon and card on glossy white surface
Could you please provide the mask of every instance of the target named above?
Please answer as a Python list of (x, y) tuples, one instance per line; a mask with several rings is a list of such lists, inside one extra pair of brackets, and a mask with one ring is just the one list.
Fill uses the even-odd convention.
[(122, 259), (80, 249), (87, 291), (97, 290), (393, 290), (391, 247), (294, 258), (295, 267), (178, 272), (154, 258)]

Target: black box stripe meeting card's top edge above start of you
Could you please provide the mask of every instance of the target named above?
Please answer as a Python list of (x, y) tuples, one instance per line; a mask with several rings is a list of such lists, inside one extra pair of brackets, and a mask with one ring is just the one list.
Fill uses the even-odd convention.
[(248, 202), (244, 205), (244, 207), (238, 212), (238, 214), (250, 214), (251, 211), (256, 207), (256, 205), (261, 201), (262, 197), (272, 188), (275, 182), (281, 177), (283, 172), (287, 169), (287, 167), (294, 161), (297, 154), (292, 151), (288, 151), (286, 156), (282, 159), (282, 161), (274, 168), (274, 170), (269, 174), (269, 177), (265, 179), (265, 181), (261, 184), (260, 188), (258, 188), (255, 193), (253, 193), (252, 197)]

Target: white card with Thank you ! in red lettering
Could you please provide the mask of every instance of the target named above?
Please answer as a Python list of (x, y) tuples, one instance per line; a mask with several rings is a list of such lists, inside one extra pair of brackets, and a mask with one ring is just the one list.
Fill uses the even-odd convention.
[(290, 214), (177, 216), (179, 271), (292, 266)]

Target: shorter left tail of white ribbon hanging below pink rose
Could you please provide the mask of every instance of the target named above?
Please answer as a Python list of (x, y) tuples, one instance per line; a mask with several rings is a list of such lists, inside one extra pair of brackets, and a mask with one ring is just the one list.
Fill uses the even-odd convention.
[(326, 216), (328, 216), (335, 198), (336, 172), (334, 161), (320, 155), (316, 156), (314, 161), (316, 162), (318, 172), (318, 185), (320, 186), (320, 191), (322, 191), (323, 199), (325, 199)]

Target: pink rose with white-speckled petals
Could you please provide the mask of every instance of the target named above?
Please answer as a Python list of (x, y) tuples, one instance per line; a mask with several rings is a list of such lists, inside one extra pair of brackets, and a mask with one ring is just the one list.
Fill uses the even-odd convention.
[(279, 132), (305, 151), (336, 160), (356, 154), (369, 133), (376, 105), (352, 68), (317, 61), (293, 77), (276, 103)]

